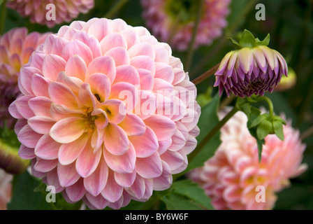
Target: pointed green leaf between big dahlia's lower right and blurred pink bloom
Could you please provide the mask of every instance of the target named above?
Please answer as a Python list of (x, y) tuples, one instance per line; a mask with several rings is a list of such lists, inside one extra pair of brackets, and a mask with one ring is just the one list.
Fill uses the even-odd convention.
[(213, 210), (210, 197), (205, 195), (203, 188), (191, 180), (176, 181), (173, 183), (173, 192), (184, 195), (199, 204), (204, 209)]

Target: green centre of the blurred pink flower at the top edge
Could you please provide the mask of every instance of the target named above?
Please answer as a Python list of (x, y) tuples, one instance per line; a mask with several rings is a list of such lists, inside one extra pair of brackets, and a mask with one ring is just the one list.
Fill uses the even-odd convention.
[[(201, 0), (168, 0), (165, 11), (173, 20), (185, 25), (188, 22), (196, 21), (198, 6)], [(202, 9), (204, 12), (204, 8)]]

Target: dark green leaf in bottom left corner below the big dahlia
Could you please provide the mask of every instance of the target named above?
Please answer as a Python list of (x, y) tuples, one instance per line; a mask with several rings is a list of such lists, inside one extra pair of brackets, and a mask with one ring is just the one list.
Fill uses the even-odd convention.
[[(45, 194), (35, 192), (40, 181), (30, 176), (28, 172), (15, 175), (13, 179), (12, 200), (8, 204), (9, 210), (50, 210), (52, 203), (45, 200)], [(47, 192), (48, 194), (48, 192)]]

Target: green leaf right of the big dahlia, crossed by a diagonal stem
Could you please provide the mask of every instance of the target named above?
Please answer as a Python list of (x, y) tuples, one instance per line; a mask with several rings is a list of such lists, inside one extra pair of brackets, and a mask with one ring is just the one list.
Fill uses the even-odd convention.
[[(205, 136), (212, 130), (212, 128), (219, 123), (217, 116), (217, 110), (219, 108), (219, 94), (216, 94), (209, 104), (201, 108), (201, 116), (198, 121), (198, 127), (200, 134), (196, 138), (198, 143), (201, 142)], [(187, 172), (190, 169), (203, 166), (204, 162), (214, 155), (215, 151), (221, 144), (219, 140), (219, 133), (215, 135), (206, 146), (199, 152), (194, 159), (190, 162), (189, 166), (185, 170)]]

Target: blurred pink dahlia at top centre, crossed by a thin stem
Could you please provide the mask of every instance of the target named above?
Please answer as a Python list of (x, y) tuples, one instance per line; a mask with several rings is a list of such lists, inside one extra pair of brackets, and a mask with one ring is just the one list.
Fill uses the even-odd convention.
[[(230, 2), (205, 0), (194, 48), (210, 45), (221, 36), (227, 25)], [(143, 17), (152, 34), (177, 50), (188, 48), (198, 15), (198, 0), (141, 0), (141, 4), (144, 8)]]

